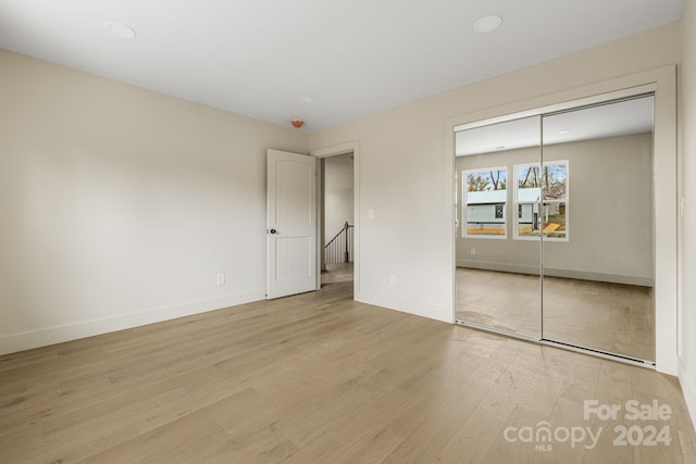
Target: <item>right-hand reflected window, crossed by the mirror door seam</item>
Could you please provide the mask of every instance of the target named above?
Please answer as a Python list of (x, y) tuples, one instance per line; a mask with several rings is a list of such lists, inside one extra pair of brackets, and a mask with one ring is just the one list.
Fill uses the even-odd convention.
[(515, 238), (568, 240), (568, 160), (515, 166)]

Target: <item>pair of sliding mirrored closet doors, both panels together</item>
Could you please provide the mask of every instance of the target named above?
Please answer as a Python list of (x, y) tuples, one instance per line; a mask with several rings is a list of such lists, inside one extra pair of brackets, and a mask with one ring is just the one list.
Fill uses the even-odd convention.
[(655, 360), (654, 96), (456, 137), (457, 322)]

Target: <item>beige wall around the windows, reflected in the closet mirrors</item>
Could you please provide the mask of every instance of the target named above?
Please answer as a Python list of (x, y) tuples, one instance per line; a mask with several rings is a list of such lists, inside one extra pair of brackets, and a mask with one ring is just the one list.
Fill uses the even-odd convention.
[[(569, 240), (546, 242), (546, 275), (652, 286), (651, 151), (651, 134), (544, 147), (546, 161), (568, 160), (570, 192)], [(457, 159), (458, 173), (507, 166), (509, 186), (507, 239), (458, 238), (458, 265), (538, 272), (538, 241), (513, 239), (511, 203), (514, 165), (536, 163), (538, 156), (538, 148), (529, 148)], [(476, 249), (474, 256), (471, 248)]]

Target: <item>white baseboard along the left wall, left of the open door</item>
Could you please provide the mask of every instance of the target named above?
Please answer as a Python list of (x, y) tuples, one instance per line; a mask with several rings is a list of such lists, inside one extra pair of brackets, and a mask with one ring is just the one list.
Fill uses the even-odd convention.
[(170, 306), (152, 308), (133, 313), (116, 314), (98, 319), (80, 321), (36, 330), (3, 335), (0, 336), (0, 354), (47, 347), (49, 344), (190, 316), (263, 299), (265, 299), (265, 289), (259, 289), (244, 293), (187, 301)]

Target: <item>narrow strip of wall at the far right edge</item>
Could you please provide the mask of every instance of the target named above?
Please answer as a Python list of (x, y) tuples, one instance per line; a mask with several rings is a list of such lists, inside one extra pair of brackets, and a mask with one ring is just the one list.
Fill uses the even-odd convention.
[(681, 218), (680, 380), (692, 422), (696, 424), (696, 1), (686, 0), (682, 14), (680, 67)]

